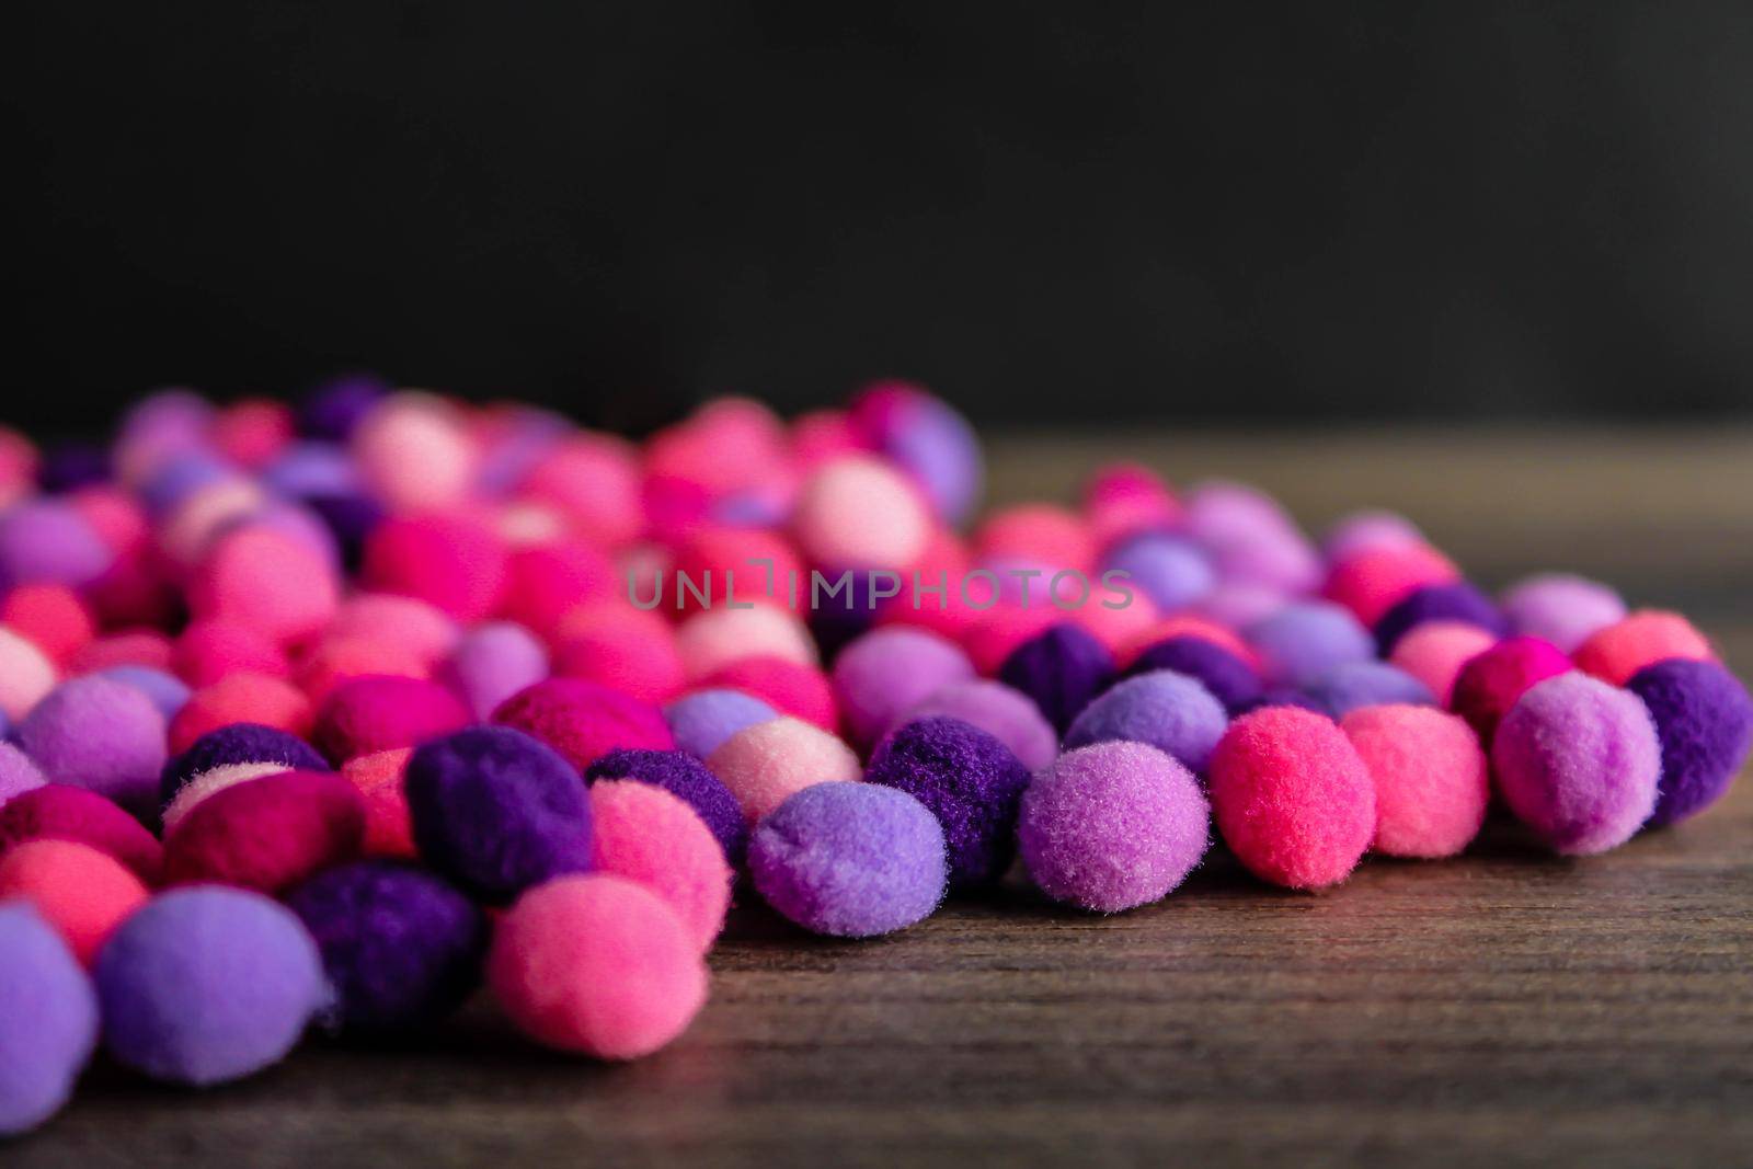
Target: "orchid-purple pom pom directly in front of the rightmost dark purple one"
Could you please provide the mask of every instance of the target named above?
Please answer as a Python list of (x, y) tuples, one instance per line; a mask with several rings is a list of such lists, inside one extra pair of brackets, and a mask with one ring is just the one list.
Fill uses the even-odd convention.
[(1504, 803), (1565, 855), (1630, 840), (1657, 804), (1662, 740), (1643, 701), (1586, 673), (1539, 682), (1492, 738)]

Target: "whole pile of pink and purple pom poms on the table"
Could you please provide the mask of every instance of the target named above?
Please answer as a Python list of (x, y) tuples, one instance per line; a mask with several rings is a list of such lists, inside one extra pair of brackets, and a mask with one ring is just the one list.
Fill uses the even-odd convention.
[[(908, 384), (635, 443), (370, 377), (0, 435), (0, 1132), (95, 1052), (217, 1085), (493, 1003), (649, 1055), (733, 899), (873, 938), (1599, 854), (1720, 799), (1753, 703), (1681, 615), (1497, 596), (1404, 517), (1108, 466), (987, 512)], [(1213, 825), (1217, 829), (1213, 836)], [(484, 992), (484, 994), (482, 994)]]

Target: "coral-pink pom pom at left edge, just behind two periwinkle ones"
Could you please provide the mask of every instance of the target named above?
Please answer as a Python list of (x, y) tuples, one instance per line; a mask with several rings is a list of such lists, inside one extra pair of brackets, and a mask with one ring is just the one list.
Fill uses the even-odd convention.
[(0, 855), (0, 901), (37, 906), (82, 964), (145, 904), (145, 885), (116, 857), (70, 840), (32, 840)]

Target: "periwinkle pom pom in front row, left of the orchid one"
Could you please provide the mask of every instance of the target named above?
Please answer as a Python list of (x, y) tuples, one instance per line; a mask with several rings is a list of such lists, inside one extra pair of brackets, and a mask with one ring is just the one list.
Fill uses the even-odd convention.
[(810, 932), (875, 938), (922, 922), (943, 901), (943, 829), (905, 790), (819, 783), (761, 820), (749, 875), (770, 906)]

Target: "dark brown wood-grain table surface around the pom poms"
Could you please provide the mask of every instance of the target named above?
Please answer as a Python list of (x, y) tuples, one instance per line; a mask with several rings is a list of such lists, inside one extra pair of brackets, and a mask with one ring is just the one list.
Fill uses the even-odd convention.
[[(994, 491), (1066, 494), (1113, 456), (1252, 478), (1311, 524), (1395, 505), (1488, 585), (1599, 573), (1753, 668), (1746, 431), (1057, 435), (997, 443)], [(826, 943), (745, 904), (712, 966), (696, 1025), (635, 1066), (475, 1006), (207, 1094), (100, 1066), (0, 1164), (1753, 1164), (1746, 780), (1606, 857), (1494, 825), (1318, 896), (1215, 855), (1110, 918), (1006, 889)]]

